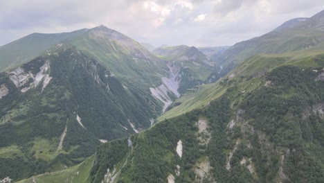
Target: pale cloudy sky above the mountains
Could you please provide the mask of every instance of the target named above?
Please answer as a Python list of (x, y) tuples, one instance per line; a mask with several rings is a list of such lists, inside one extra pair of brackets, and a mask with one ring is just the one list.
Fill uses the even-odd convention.
[(321, 10), (323, 0), (0, 0), (0, 46), (100, 24), (154, 46), (232, 45)]

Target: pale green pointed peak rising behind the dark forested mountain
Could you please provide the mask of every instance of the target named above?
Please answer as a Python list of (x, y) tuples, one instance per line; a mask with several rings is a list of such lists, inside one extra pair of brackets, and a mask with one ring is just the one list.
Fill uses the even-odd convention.
[(148, 89), (161, 83), (161, 76), (168, 76), (165, 62), (154, 57), (132, 38), (105, 26), (91, 28), (64, 42), (96, 58), (126, 85), (135, 84)]

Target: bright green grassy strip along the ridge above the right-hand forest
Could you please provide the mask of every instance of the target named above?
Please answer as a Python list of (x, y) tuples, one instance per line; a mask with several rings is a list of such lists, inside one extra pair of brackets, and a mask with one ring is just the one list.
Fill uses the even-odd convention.
[[(186, 92), (181, 98), (174, 101), (174, 103), (181, 104), (159, 116), (158, 121), (170, 119), (204, 107), (208, 105), (210, 101), (222, 96), (222, 94), (226, 92), (226, 89), (230, 87), (237, 87), (242, 95), (249, 93), (258, 86), (264, 85), (265, 81), (261, 76), (276, 67), (283, 65), (294, 65), (303, 68), (321, 67), (314, 61), (314, 58), (323, 55), (324, 51), (316, 48), (283, 54), (255, 55), (239, 64), (233, 71), (218, 82), (210, 85), (203, 85), (202, 87), (199, 86), (198, 92)], [(221, 82), (224, 81), (228, 84), (221, 85)]]

